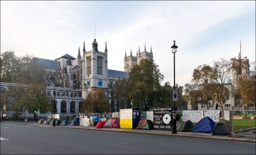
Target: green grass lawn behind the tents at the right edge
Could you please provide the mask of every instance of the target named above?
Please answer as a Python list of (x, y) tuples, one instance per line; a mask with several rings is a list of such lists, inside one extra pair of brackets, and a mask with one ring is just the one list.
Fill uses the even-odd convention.
[[(220, 119), (220, 122), (224, 122), (223, 119)], [(193, 122), (195, 126), (197, 122)], [(226, 121), (225, 124), (229, 126), (229, 129), (232, 130), (232, 119), (230, 122)], [(256, 119), (234, 119), (234, 131), (241, 130), (246, 128), (256, 127)]]

